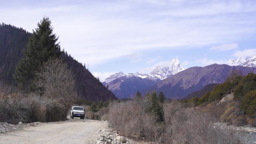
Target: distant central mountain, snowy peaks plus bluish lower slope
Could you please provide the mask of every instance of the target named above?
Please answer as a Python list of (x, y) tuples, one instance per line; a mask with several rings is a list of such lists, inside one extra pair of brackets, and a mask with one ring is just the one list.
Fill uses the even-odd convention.
[(180, 61), (174, 58), (167, 67), (157, 66), (149, 74), (119, 72), (104, 80), (103, 85), (108, 86), (118, 98), (129, 98), (132, 94), (157, 82), (183, 71)]

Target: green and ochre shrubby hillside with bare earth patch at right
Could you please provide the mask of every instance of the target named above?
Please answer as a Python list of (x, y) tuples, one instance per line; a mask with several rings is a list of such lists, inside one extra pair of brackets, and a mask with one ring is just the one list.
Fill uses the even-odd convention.
[(256, 74), (229, 77), (201, 98), (191, 98), (182, 102), (204, 107), (222, 122), (256, 125)]

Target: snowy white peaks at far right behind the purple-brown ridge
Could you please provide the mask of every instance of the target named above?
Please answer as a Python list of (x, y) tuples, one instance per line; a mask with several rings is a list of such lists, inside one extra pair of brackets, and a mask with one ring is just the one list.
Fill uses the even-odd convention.
[(238, 59), (229, 59), (228, 65), (240, 65), (244, 67), (256, 67), (256, 56), (252, 58), (242, 59), (239, 57)]

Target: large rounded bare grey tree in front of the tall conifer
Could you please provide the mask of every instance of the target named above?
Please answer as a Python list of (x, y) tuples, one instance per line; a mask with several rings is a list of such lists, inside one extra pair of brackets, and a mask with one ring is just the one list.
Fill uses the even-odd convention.
[(60, 59), (50, 59), (36, 76), (36, 85), (48, 98), (68, 103), (76, 96), (73, 73)]

